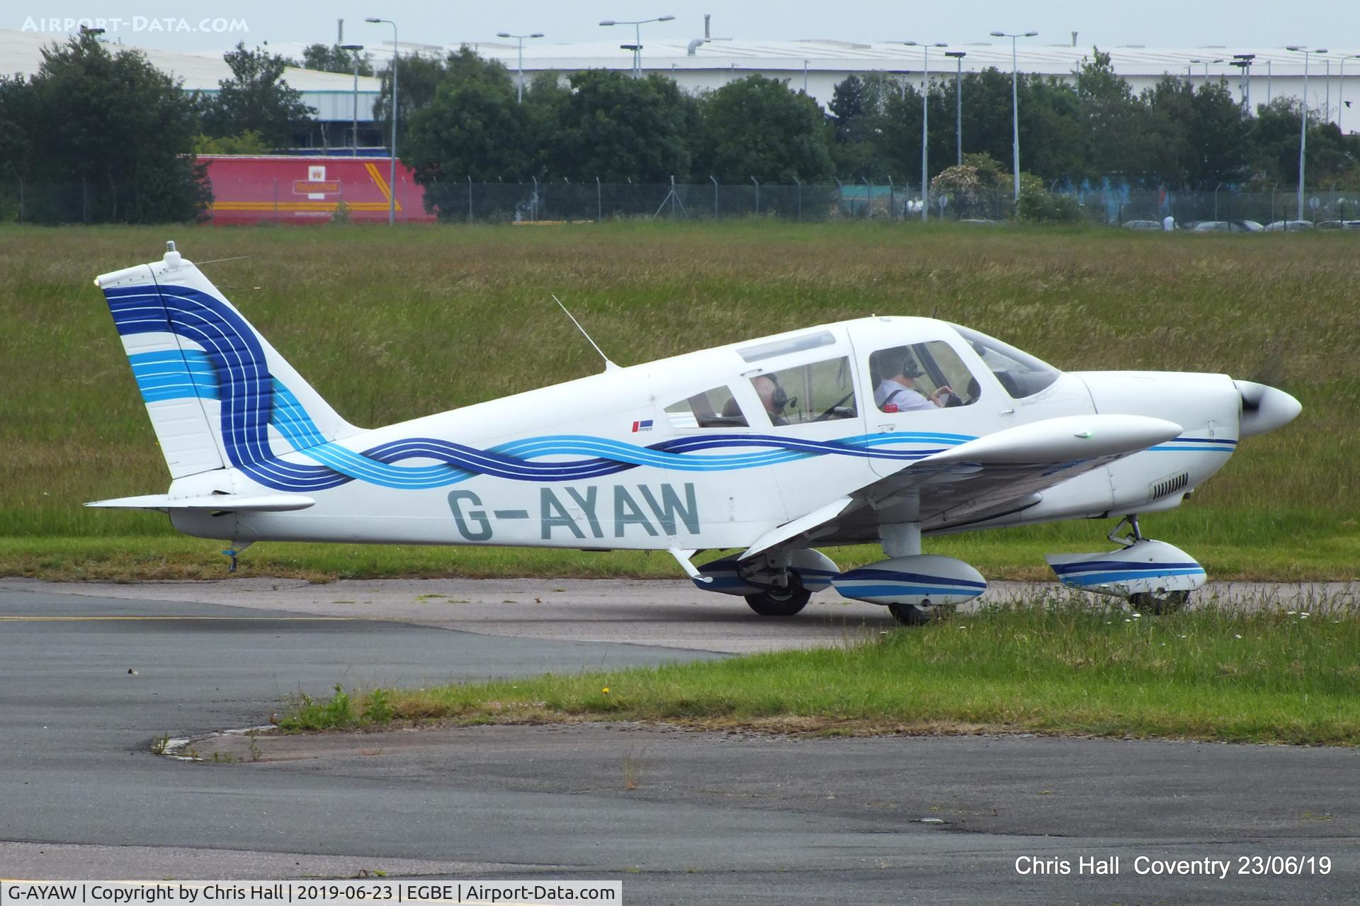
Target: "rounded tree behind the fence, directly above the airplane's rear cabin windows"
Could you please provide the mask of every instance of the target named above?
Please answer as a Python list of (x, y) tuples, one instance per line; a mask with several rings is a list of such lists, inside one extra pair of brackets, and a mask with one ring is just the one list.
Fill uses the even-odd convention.
[(830, 180), (831, 128), (817, 102), (760, 75), (737, 79), (702, 101), (699, 161), (726, 182)]

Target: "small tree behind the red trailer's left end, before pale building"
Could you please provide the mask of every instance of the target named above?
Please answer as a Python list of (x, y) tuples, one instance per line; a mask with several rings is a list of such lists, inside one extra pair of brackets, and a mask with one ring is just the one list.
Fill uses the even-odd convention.
[(287, 60), (265, 48), (246, 50), (245, 42), (227, 50), (223, 60), (231, 79), (218, 83), (216, 97), (203, 113), (203, 131), (212, 137), (260, 133), (271, 147), (287, 147), (292, 133), (316, 113), (302, 102), (302, 93), (283, 80)]

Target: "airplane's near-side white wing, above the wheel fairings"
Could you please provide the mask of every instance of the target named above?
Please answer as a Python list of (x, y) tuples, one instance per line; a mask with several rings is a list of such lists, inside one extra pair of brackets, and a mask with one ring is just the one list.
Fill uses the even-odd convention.
[(1039, 492), (1180, 434), (1141, 415), (1072, 415), (979, 437), (906, 465), (759, 537), (738, 559), (793, 540), (873, 541), (879, 526), (955, 528), (1028, 509)]

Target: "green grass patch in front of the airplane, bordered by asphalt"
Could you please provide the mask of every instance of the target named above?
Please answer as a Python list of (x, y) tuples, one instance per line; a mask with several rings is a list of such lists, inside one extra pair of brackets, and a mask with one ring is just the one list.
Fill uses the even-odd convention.
[(676, 721), (796, 733), (1035, 732), (1360, 744), (1360, 616), (1142, 618), (1034, 600), (811, 652), (426, 690), (336, 688), (280, 726)]

